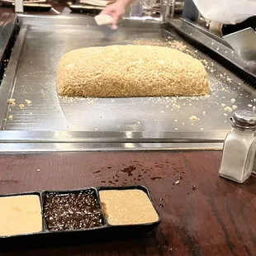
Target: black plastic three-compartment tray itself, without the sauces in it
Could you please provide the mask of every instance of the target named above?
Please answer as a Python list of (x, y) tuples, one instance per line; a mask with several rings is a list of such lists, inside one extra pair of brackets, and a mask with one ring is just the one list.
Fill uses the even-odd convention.
[[(107, 222), (107, 217), (105, 216), (102, 208), (102, 203), (99, 198), (99, 192), (101, 190), (128, 190), (128, 189), (139, 189), (146, 193), (149, 197), (149, 200), (154, 207), (154, 210), (159, 216), (159, 219), (155, 222), (150, 222), (146, 224), (138, 225), (110, 225)], [(79, 193), (79, 192), (93, 192), (94, 197), (99, 202), (101, 211), (102, 211), (102, 225), (92, 228), (85, 228), (79, 230), (58, 230), (51, 231), (48, 230), (47, 224), (44, 216), (44, 204), (45, 196), (47, 194), (69, 194), (69, 193)], [(42, 215), (42, 230), (37, 233), (29, 233), (24, 235), (9, 235), (9, 236), (0, 236), (0, 246), (4, 248), (7, 246), (13, 246), (13, 243), (16, 245), (28, 245), (35, 246), (37, 244), (42, 245), (47, 243), (47, 246), (55, 246), (57, 244), (86, 244), (87, 241), (96, 241), (96, 240), (106, 240), (106, 239), (120, 239), (134, 237), (138, 235), (145, 235), (154, 230), (161, 221), (161, 216), (159, 211), (154, 206), (154, 202), (150, 196), (149, 190), (144, 186), (130, 186), (130, 187), (86, 187), (73, 190), (64, 190), (64, 191), (35, 191), (35, 192), (22, 192), (17, 194), (8, 194), (0, 195), (0, 197), (14, 197), (14, 196), (24, 196), (24, 195), (37, 195), (40, 197), (40, 206), (41, 206), (41, 215)], [(0, 210), (1, 211), (1, 210)]]

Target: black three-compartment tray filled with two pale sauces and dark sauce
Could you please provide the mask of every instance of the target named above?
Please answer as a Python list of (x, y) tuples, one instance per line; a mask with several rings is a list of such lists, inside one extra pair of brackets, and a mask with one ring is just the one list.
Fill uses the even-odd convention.
[(0, 196), (0, 243), (104, 239), (145, 234), (159, 225), (143, 186), (88, 187)]

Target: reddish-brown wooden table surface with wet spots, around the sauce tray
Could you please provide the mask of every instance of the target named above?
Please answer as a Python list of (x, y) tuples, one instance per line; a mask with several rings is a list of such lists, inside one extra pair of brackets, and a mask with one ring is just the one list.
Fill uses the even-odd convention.
[(0, 193), (141, 184), (163, 218), (143, 238), (0, 255), (256, 255), (256, 178), (232, 183), (219, 164), (215, 151), (0, 154)]

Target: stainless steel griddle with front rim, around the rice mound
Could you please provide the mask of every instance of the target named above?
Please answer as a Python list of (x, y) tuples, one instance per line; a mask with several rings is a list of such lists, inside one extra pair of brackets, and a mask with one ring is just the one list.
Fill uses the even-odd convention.
[[(231, 112), (256, 106), (253, 88), (171, 26), (124, 21), (119, 31), (106, 36), (88, 18), (21, 16), (19, 20), (21, 30), (0, 87), (0, 142), (8, 142), (1, 150), (220, 149), (230, 130)], [(195, 37), (202, 35), (194, 32)], [(203, 60), (210, 96), (64, 98), (55, 91), (56, 66), (69, 50), (114, 44), (180, 48), (177, 42)], [(15, 98), (16, 106), (8, 106), (8, 98)], [(192, 121), (193, 116), (197, 120)]]

